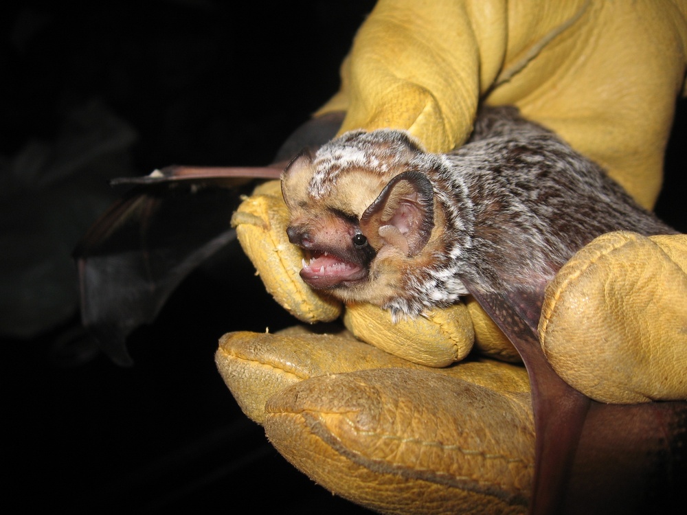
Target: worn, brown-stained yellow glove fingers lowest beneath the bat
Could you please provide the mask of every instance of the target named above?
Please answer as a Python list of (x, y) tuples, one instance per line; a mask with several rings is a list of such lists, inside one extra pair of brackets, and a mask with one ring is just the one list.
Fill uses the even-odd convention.
[(227, 334), (216, 363), (280, 453), (341, 496), (386, 513), (526, 512), (534, 425), (519, 365), (428, 368), (302, 328)]

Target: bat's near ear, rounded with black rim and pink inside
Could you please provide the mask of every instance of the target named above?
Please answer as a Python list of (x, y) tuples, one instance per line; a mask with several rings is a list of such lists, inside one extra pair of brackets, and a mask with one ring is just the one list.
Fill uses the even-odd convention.
[(403, 172), (384, 187), (360, 218), (360, 229), (372, 247), (392, 244), (417, 255), (434, 227), (434, 193), (427, 176)]

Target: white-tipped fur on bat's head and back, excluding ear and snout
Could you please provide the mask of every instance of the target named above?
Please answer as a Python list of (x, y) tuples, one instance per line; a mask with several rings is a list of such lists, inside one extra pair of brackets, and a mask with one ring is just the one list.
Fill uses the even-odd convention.
[[(412, 257), (375, 248), (356, 258), (347, 239), (360, 229), (351, 217), (360, 220), (383, 187), (408, 171), (431, 183), (433, 219), (427, 223), (433, 229), (425, 247)], [(486, 109), (471, 140), (448, 155), (424, 152), (402, 131), (352, 131), (317, 151), (308, 177), (300, 209), (311, 209), (311, 220), (348, 214), (350, 227), (337, 244), (369, 271), (365, 282), (331, 293), (371, 301), (395, 316), (455, 303), (468, 293), (462, 278), (486, 292), (541, 296), (563, 263), (601, 233), (674, 232), (598, 165), (515, 108)], [(317, 246), (322, 230), (316, 224), (301, 229)]]

